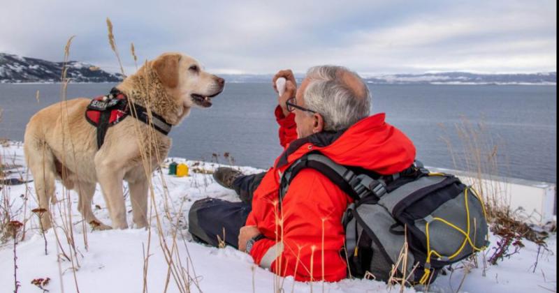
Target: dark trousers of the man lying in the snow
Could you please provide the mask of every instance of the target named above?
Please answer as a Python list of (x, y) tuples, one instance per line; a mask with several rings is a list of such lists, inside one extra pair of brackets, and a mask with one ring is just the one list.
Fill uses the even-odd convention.
[(238, 248), (239, 230), (252, 211), (252, 196), (266, 174), (240, 176), (233, 189), (242, 202), (205, 198), (192, 204), (188, 214), (189, 232), (196, 241), (219, 247), (220, 241)]

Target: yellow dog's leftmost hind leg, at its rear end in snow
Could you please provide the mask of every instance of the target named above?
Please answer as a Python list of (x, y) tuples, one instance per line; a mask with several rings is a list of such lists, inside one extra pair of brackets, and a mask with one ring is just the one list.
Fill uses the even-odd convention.
[(37, 195), (39, 212), (41, 216), (41, 229), (48, 230), (51, 227), (49, 204), (55, 193), (55, 155), (45, 142), (31, 137), (25, 137), (24, 153), (27, 167), (33, 174), (35, 193)]

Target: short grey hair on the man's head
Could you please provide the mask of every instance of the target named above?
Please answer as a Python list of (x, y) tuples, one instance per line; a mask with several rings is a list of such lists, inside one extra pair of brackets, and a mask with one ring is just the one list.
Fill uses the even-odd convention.
[[(358, 81), (357, 88), (344, 75)], [(307, 71), (309, 84), (303, 93), (305, 107), (321, 114), (324, 130), (338, 131), (368, 117), (370, 92), (361, 77), (342, 66), (315, 66)]]

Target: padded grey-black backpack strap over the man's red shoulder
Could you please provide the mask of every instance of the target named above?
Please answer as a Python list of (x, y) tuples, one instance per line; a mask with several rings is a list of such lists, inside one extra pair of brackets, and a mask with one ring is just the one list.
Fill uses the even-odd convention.
[(355, 201), (372, 195), (379, 200), (386, 194), (386, 183), (383, 179), (372, 179), (367, 174), (356, 174), (347, 167), (335, 163), (321, 153), (308, 153), (296, 160), (282, 175), (279, 183), (279, 205), (287, 193), (289, 184), (295, 176), (305, 168), (317, 170), (328, 177), (335, 185), (347, 193)]

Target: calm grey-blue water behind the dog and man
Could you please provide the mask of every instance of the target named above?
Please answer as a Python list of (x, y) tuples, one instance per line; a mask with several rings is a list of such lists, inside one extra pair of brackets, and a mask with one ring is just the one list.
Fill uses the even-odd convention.
[[(70, 84), (68, 97), (108, 93), (112, 84)], [(23, 140), (29, 118), (60, 100), (59, 84), (0, 84), (0, 137)], [(36, 91), (39, 91), (39, 102)], [(426, 165), (468, 169), (456, 125), (463, 119), (479, 135), (482, 149), (496, 145), (499, 174), (556, 183), (557, 87), (491, 85), (371, 85), (372, 112), (386, 112), (386, 121), (415, 143)], [(277, 103), (270, 84), (227, 84), (210, 109), (194, 109), (171, 130), (170, 156), (268, 168), (279, 153)], [(452, 144), (453, 156), (443, 138)], [(453, 158), (457, 161), (456, 166)]]

